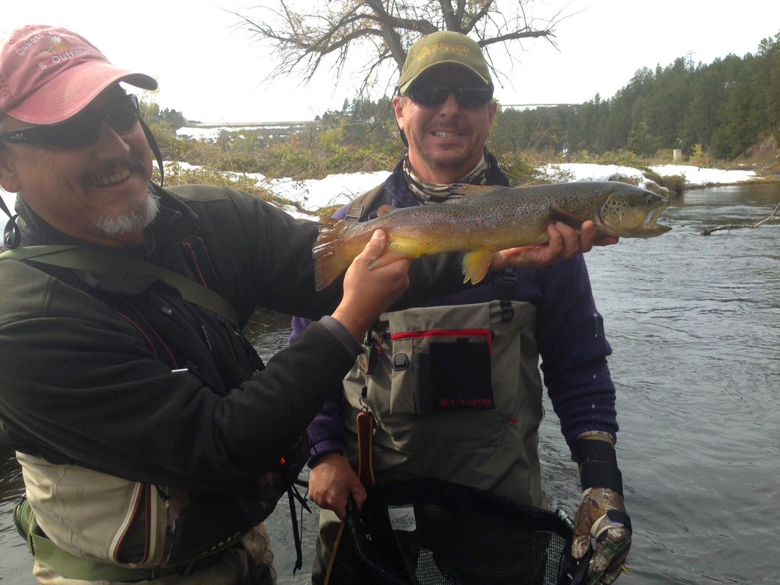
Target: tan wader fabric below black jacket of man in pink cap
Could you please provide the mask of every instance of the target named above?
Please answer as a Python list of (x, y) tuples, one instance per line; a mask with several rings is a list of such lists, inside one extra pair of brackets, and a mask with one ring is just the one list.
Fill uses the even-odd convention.
[[(80, 466), (55, 465), (44, 459), (17, 452), (22, 466), (27, 501), (35, 513), (37, 526), (48, 540), (70, 555), (97, 563), (116, 563), (115, 554), (133, 517), (134, 506), (144, 485)], [(146, 491), (144, 513), (153, 530), (144, 543), (149, 546), (145, 568), (157, 566), (165, 555), (168, 506), (155, 489)], [(74, 505), (81, 502), (82, 505)], [(211, 560), (214, 562), (212, 563)], [(155, 585), (275, 585), (271, 539), (261, 523), (239, 542), (206, 558), (203, 570), (190, 575), (172, 574), (137, 581)], [(45, 564), (52, 567), (45, 566)], [(36, 562), (33, 574), (43, 585), (113, 585), (126, 581), (80, 580), (63, 577), (50, 561)]]

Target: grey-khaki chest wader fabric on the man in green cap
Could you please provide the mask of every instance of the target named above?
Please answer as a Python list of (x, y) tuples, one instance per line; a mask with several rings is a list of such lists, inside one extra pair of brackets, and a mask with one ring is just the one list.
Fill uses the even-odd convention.
[[(505, 321), (506, 303), (495, 300), (415, 307), (380, 317), (389, 334), (381, 335), (374, 371), (367, 376), (356, 365), (344, 380), (346, 399), (352, 406), (346, 407), (344, 414), (344, 455), (354, 469), (358, 460), (355, 417), (365, 406), (376, 424), (373, 453), (377, 481), (428, 477), (547, 507), (537, 454), (538, 427), (544, 412), (536, 307), (512, 301), (512, 318)], [(424, 376), (417, 371), (416, 380), (415, 365), (426, 363), (431, 344), (466, 342), (476, 346), (487, 342), (480, 337), (484, 331), (490, 332), (488, 375), (495, 407), (431, 410), (430, 404), (420, 400), (424, 394), (420, 378)], [(392, 335), (396, 339), (390, 339)], [(470, 374), (465, 372), (464, 376)], [(314, 585), (324, 583), (339, 524), (335, 514), (321, 511)]]

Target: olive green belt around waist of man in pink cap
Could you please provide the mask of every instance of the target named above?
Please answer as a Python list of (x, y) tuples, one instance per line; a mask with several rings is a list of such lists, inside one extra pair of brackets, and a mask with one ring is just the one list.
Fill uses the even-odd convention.
[(51, 542), (35, 522), (35, 514), (30, 502), (23, 498), (13, 511), (13, 520), (19, 534), (27, 541), (30, 552), (41, 566), (44, 566), (68, 579), (84, 581), (122, 581), (133, 583), (156, 579), (176, 573), (179, 567), (144, 567), (129, 569), (106, 562), (89, 561), (62, 550)]

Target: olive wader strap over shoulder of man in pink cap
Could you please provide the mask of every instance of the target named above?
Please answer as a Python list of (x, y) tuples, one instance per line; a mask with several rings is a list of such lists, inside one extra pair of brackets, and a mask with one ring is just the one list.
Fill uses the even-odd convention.
[(0, 260), (8, 258), (20, 261), (31, 260), (75, 270), (113, 272), (119, 268), (120, 270), (139, 271), (146, 275), (155, 276), (178, 289), (184, 300), (222, 315), (232, 324), (238, 324), (236, 310), (222, 295), (184, 275), (137, 258), (80, 246), (27, 246), (26, 248), (6, 250), (0, 254)]

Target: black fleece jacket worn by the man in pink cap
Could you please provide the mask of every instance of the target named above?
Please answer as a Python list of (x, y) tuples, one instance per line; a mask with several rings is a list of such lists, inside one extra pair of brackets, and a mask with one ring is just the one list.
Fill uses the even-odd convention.
[[(192, 278), (182, 242), (200, 236), (239, 328), (257, 307), (317, 319), (338, 304), (340, 280), (314, 291), (314, 222), (227, 188), (158, 192), (164, 210), (146, 245), (109, 251)], [(16, 211), (23, 243), (74, 243), (23, 201)], [(232, 491), (304, 431), (355, 360), (332, 328), (315, 323), (252, 373), (238, 328), (175, 289), (133, 275), (76, 272), (98, 288), (121, 291), (125, 283), (123, 293), (136, 300), (170, 305), (190, 340), (179, 346), (203, 375), (172, 371), (121, 313), (39, 268), (0, 262), (0, 441), (58, 463), (148, 484)], [(410, 276), (402, 306), (463, 288), (458, 254), (417, 261)]]

